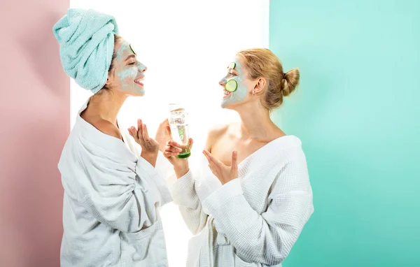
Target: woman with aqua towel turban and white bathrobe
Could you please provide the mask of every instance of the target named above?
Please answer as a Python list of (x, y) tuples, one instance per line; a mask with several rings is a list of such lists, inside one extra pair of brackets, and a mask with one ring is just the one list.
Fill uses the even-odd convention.
[(141, 120), (128, 131), (117, 121), (128, 96), (144, 95), (147, 68), (110, 15), (70, 9), (53, 32), (64, 71), (93, 93), (58, 164), (61, 266), (167, 266), (158, 208), (172, 199), (155, 170), (159, 143)]

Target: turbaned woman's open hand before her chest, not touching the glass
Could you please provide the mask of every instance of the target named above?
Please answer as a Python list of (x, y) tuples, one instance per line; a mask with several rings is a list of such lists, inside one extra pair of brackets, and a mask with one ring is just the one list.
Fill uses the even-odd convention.
[(158, 159), (159, 143), (155, 139), (148, 136), (146, 124), (141, 120), (137, 120), (137, 129), (132, 126), (128, 129), (130, 136), (136, 140), (136, 143), (141, 145), (141, 157), (146, 159), (153, 167)]

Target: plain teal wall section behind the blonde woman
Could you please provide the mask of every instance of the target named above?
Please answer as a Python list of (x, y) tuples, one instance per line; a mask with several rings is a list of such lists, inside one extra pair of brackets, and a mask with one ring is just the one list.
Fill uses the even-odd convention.
[(420, 266), (420, 1), (272, 0), (315, 212), (285, 267)]

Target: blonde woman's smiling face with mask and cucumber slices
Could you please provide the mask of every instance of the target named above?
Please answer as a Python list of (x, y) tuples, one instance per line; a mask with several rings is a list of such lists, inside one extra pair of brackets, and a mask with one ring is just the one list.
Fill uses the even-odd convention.
[[(235, 80), (237, 86), (234, 92), (226, 90), (225, 85), (230, 81)], [(235, 85), (235, 82), (230, 82)], [(244, 68), (244, 62), (240, 57), (235, 57), (235, 60), (229, 64), (228, 74), (220, 80), (219, 85), (223, 87), (223, 99), (221, 103), (222, 108), (232, 108), (246, 101), (248, 94), (251, 94), (255, 83), (248, 78), (248, 73)], [(235, 88), (235, 86), (233, 87)]]

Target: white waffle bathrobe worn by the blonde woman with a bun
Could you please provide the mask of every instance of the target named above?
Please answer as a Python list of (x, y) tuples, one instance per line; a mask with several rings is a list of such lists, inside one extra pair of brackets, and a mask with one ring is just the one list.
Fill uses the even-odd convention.
[(301, 142), (283, 136), (239, 164), (221, 185), (202, 159), (171, 186), (193, 234), (187, 266), (281, 266), (314, 207)]

